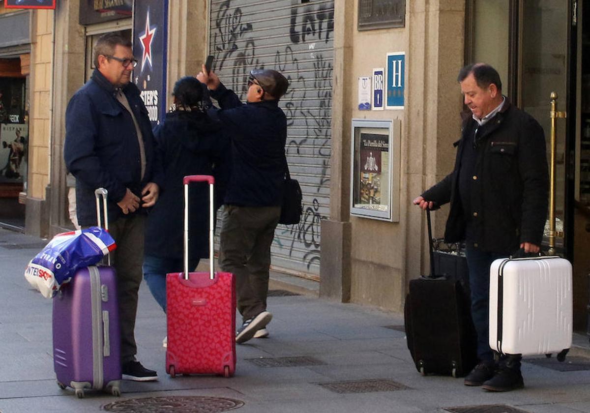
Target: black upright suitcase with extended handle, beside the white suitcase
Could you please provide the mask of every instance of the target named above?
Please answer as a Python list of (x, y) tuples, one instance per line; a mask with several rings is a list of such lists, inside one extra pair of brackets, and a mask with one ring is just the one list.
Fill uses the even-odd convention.
[[(430, 211), (427, 210), (431, 275), (409, 282), (404, 306), (408, 349), (422, 375), (467, 375), (477, 363), (477, 339), (464, 280), (435, 276)], [(461, 283), (463, 281), (463, 283)]]

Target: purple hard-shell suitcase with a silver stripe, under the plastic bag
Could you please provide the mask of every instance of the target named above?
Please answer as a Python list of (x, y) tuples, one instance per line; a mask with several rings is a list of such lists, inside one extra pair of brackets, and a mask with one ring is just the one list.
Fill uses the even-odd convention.
[[(108, 229), (107, 194), (102, 188), (96, 190), (97, 213), (101, 195)], [(53, 365), (60, 388), (74, 388), (78, 398), (84, 397), (86, 388), (121, 394), (119, 307), (113, 267), (78, 270), (54, 297)]]

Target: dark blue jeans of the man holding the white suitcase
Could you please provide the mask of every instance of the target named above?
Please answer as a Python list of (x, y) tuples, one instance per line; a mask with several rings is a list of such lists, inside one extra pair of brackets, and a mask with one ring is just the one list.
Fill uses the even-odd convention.
[(490, 266), (506, 254), (486, 253), (470, 245), (465, 248), (471, 288), (471, 316), (477, 332), (477, 358), (491, 361), (494, 353), (490, 348)]

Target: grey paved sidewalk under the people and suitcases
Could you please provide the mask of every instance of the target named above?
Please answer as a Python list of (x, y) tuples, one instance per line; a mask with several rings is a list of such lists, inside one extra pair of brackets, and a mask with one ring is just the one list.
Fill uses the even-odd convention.
[[(120, 398), (87, 391), (86, 398), (77, 399), (71, 389), (60, 390), (55, 382), (51, 300), (32, 290), (23, 277), (26, 264), (42, 244), (38, 238), (0, 229), (2, 413), (106, 409), (217, 412), (232, 407), (243, 413), (590, 412), (590, 371), (578, 370), (590, 368), (585, 336), (575, 336), (579, 347), (572, 350), (566, 363), (545, 360), (543, 356), (538, 360), (545, 366), (540, 366), (527, 358), (523, 363), (526, 388), (496, 394), (464, 386), (462, 379), (419, 375), (409, 356), (405, 334), (396, 329), (403, 324), (402, 314), (304, 295), (269, 297), (268, 309), (274, 314), (268, 326), (270, 337), (237, 346), (237, 372), (233, 378), (172, 379), (165, 373), (162, 348), (165, 315), (144, 284), (136, 327), (137, 357), (158, 371), (159, 381), (124, 381)], [(280, 362), (303, 365), (264, 366)], [(343, 381), (348, 383), (339, 383)], [(367, 387), (381, 391), (361, 392)], [(335, 392), (338, 389), (345, 392)], [(113, 402), (126, 402), (130, 407), (110, 405)], [(163, 407), (157, 409), (158, 403)], [(192, 408), (188, 407), (191, 403)], [(509, 408), (464, 408), (475, 405)]]

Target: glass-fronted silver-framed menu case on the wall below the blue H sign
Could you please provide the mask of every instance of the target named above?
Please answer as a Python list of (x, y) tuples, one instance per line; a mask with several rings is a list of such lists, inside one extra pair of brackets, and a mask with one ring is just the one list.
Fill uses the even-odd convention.
[(350, 215), (399, 221), (399, 120), (352, 120)]

